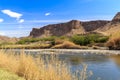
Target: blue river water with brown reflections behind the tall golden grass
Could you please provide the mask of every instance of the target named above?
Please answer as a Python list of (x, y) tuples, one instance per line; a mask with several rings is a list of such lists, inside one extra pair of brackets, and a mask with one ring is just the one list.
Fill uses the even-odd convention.
[[(52, 53), (56, 53), (51, 51)], [(49, 52), (49, 53), (51, 53)], [(45, 52), (33, 51), (27, 52), (35, 56), (38, 55), (51, 55), (44, 54)], [(60, 52), (62, 53), (62, 52)], [(70, 53), (64, 52), (58, 54), (60, 60), (65, 61), (71, 66), (71, 73), (76, 70), (82, 69), (82, 64), (87, 64), (87, 71), (92, 71), (93, 76), (88, 80), (120, 80), (120, 56), (119, 55), (104, 55), (104, 54), (91, 54), (89, 52)]]

